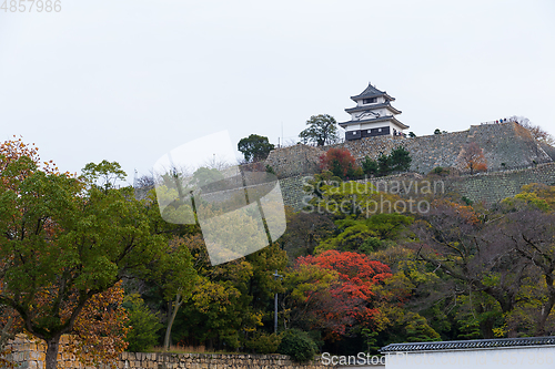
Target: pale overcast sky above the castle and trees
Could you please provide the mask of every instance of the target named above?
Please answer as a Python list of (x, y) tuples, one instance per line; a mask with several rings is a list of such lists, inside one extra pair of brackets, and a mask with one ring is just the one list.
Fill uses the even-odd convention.
[(555, 133), (555, 1), (61, 6), (0, 10), (0, 140), (62, 171), (105, 158), (132, 181), (222, 130), (291, 140), (311, 115), (349, 120), (369, 81), (417, 135), (515, 114)]

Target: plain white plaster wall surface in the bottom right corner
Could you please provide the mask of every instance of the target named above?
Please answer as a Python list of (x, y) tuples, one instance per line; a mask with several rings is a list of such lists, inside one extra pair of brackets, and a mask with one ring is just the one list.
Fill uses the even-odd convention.
[(386, 369), (553, 369), (555, 347), (498, 348), (389, 355)]

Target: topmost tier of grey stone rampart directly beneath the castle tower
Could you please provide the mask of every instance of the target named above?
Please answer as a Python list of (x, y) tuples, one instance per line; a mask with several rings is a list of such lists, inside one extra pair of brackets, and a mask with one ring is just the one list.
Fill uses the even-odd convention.
[(427, 174), (437, 166), (463, 170), (462, 155), (465, 145), (471, 142), (476, 142), (483, 148), (491, 172), (548, 163), (555, 157), (554, 147), (539, 144), (528, 130), (511, 122), (473, 125), (467, 131), (414, 139), (366, 137), (324, 147), (297, 144), (272, 151), (266, 164), (280, 177), (287, 177), (316, 173), (320, 155), (331, 147), (347, 148), (361, 163), (365, 156), (375, 160), (381, 154), (389, 154), (393, 148), (403, 146), (412, 157), (411, 171)]

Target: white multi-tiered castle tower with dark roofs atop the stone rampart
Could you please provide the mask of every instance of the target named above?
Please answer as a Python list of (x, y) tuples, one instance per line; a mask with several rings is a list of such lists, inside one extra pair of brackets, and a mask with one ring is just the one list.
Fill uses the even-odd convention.
[(403, 136), (403, 130), (408, 129), (395, 117), (401, 111), (391, 105), (395, 99), (385, 91), (369, 83), (366, 90), (351, 96), (351, 100), (356, 103), (356, 106), (345, 109), (351, 114), (351, 121), (340, 123), (346, 131), (346, 141), (382, 135)]

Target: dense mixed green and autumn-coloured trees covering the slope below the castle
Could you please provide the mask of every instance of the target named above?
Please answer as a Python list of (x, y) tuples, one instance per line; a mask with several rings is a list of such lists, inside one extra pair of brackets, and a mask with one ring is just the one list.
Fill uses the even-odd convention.
[[(286, 211), (282, 238), (212, 266), (200, 225), (160, 214), (157, 198), (178, 195), (164, 181), (179, 174), (148, 181), (138, 201), (115, 185), (124, 177), (117, 163), (90, 163), (77, 177), (21, 141), (0, 145), (0, 357), (18, 331), (47, 341), (49, 369), (67, 332), (88, 363), (113, 362), (128, 344), (304, 360), (400, 341), (555, 334), (555, 186), (472, 205), (456, 193), (433, 194), (430, 182), (423, 189), (431, 177), (404, 193), (346, 182), (354, 160), (330, 155), (331, 166), (305, 182), (313, 196), (305, 208)], [(363, 167), (379, 175), (393, 162), (401, 171), (410, 155), (397, 148)], [(188, 185), (221, 178), (201, 168)], [(154, 181), (158, 194), (149, 192)], [(416, 202), (430, 206), (415, 212)], [(196, 207), (206, 218), (228, 209)], [(220, 225), (222, 244), (253, 242), (253, 213), (239, 223), (231, 238), (232, 225)]]

